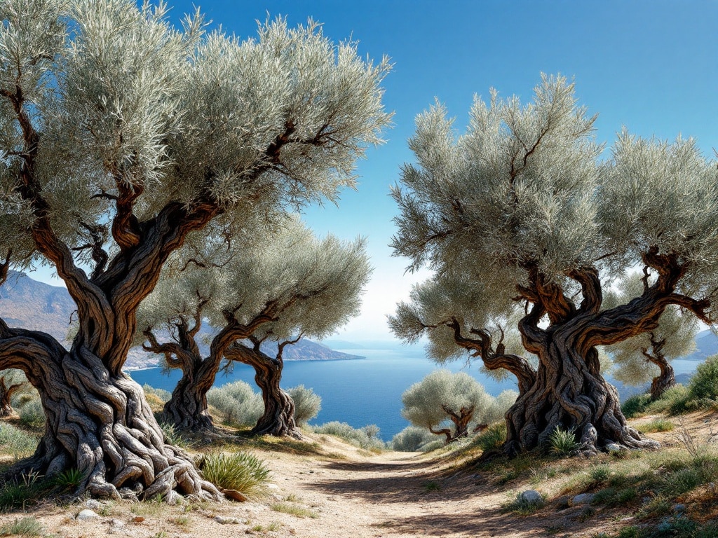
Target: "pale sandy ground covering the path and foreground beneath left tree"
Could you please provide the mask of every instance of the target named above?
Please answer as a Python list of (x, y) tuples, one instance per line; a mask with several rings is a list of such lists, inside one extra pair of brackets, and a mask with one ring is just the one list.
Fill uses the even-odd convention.
[[(705, 430), (709, 419), (694, 417), (688, 427)], [(645, 420), (650, 420), (647, 418)], [(653, 435), (652, 435), (653, 436)], [(668, 445), (669, 434), (656, 434)], [(455, 461), (432, 461), (414, 453), (369, 454), (334, 438), (316, 439), (325, 456), (256, 451), (273, 471), (269, 493), (248, 503), (167, 506), (159, 503), (104, 502), (97, 519), (78, 521), (85, 508), (47, 504), (27, 514), (1, 514), (0, 524), (36, 516), (55, 537), (229, 538), (242, 534), (304, 538), (408, 537), (595, 537), (628, 524), (616, 511), (549, 502), (530, 516), (506, 514), (516, 494), (542, 485), (509, 482), (456, 471)], [(515, 482), (515, 481), (514, 481)], [(277, 511), (279, 509), (280, 511)], [(295, 511), (294, 514), (282, 510)], [(220, 523), (215, 517), (237, 518)]]

